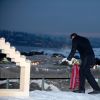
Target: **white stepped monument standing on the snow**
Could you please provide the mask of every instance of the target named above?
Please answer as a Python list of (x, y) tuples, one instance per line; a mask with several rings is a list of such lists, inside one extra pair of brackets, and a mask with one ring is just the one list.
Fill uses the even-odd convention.
[(20, 66), (20, 87), (19, 89), (0, 89), (0, 96), (29, 96), (30, 85), (30, 64), (31, 61), (22, 56), (4, 38), (0, 38), (0, 50), (11, 58), (16, 65)]

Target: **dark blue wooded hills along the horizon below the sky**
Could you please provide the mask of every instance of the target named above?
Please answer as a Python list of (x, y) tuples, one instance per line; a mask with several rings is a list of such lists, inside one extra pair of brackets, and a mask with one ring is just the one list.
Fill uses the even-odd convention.
[[(36, 34), (27, 32), (16, 32), (0, 30), (0, 37), (15, 46), (32, 46), (42, 48), (64, 48), (71, 47), (71, 40), (64, 35)], [(93, 48), (100, 48), (100, 38), (89, 37)]]

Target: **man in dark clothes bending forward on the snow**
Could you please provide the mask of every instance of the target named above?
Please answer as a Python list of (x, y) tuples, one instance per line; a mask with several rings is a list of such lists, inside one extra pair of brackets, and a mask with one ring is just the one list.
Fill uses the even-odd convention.
[(80, 54), (81, 65), (80, 65), (80, 86), (79, 90), (74, 91), (78, 93), (85, 93), (85, 79), (89, 82), (93, 91), (89, 94), (100, 93), (100, 87), (98, 86), (95, 78), (91, 74), (90, 68), (95, 64), (95, 55), (89, 40), (85, 37), (79, 36), (76, 33), (71, 34), (72, 49), (68, 56), (68, 60), (71, 60), (76, 53), (76, 50)]

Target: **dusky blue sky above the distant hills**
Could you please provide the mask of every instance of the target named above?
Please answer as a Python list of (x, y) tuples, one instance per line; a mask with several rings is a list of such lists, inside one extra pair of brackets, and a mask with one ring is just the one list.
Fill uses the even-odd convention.
[(100, 0), (0, 0), (0, 30), (100, 36)]

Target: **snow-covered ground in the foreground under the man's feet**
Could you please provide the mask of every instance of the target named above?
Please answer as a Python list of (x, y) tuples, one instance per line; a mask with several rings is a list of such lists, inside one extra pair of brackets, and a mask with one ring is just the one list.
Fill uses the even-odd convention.
[(0, 100), (99, 100), (100, 94), (79, 94), (73, 92), (32, 91), (29, 97), (0, 97)]

